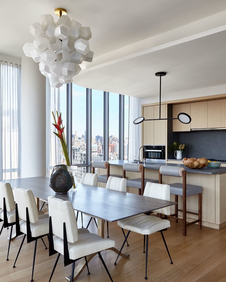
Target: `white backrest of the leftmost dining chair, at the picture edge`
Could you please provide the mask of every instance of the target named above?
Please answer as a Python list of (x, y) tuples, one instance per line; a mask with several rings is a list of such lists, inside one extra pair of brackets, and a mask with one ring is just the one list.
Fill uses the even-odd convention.
[(0, 208), (3, 209), (3, 198), (5, 198), (6, 211), (14, 210), (14, 196), (9, 183), (0, 182)]

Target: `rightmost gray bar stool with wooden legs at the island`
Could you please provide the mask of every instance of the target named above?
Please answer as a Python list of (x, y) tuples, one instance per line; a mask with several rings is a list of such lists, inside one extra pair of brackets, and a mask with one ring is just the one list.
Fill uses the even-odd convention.
[[(187, 226), (198, 222), (198, 228), (202, 228), (202, 187), (198, 185), (191, 185), (186, 183), (186, 170), (178, 166), (161, 166), (159, 169), (159, 183), (162, 184), (162, 175), (182, 177), (183, 183), (171, 183), (170, 194), (175, 195), (175, 202), (178, 202), (178, 196), (182, 196), (182, 210), (178, 209), (178, 204), (175, 205), (175, 213), (168, 215), (168, 217), (175, 218), (175, 222), (178, 220), (183, 221), (183, 235), (187, 235)], [(187, 196), (198, 194), (199, 205), (198, 213), (187, 211)], [(178, 211), (182, 211), (183, 217), (178, 217)], [(187, 222), (187, 213), (198, 215), (198, 219), (192, 222)]]

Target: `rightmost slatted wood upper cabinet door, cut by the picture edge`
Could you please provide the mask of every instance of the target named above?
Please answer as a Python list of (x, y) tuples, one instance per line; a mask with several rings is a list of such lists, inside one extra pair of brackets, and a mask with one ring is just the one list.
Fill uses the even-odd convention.
[(208, 102), (207, 128), (226, 127), (226, 99), (210, 100)]

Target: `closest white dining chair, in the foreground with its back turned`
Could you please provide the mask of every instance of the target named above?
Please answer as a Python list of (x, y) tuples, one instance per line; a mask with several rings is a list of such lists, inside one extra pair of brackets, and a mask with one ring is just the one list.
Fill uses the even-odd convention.
[[(85, 258), (86, 266), (89, 273), (87, 255), (98, 253), (110, 280), (112, 277), (100, 254), (102, 250), (112, 248), (115, 242), (110, 239), (90, 233), (86, 228), (77, 227), (75, 212), (70, 201), (63, 201), (54, 196), (48, 197), (49, 203), (49, 255), (58, 252), (53, 271), (49, 282), (53, 276), (60, 254), (64, 255), (64, 266), (72, 263), (71, 281), (74, 277), (75, 261)], [(53, 236), (54, 235), (54, 236)], [(90, 258), (90, 259), (91, 259)]]

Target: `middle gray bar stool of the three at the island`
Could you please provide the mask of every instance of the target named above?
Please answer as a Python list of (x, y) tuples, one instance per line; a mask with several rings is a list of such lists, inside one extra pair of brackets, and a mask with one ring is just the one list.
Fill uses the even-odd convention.
[(146, 179), (144, 178), (144, 166), (143, 164), (134, 164), (134, 163), (125, 163), (123, 164), (123, 170), (122, 170), (122, 177), (126, 178), (126, 171), (132, 171), (132, 172), (140, 172), (140, 178), (134, 178), (134, 179), (127, 179), (126, 186), (127, 187), (133, 187), (138, 188), (139, 194), (144, 194), (144, 187), (147, 182), (153, 182), (158, 183), (158, 180), (155, 179)]

